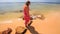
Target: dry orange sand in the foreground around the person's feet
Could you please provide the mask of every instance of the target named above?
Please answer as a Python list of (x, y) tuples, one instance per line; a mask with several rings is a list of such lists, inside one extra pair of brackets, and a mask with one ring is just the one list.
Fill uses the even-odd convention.
[[(19, 19), (11, 19), (8, 21), (10, 23), (5, 23), (0, 21), (0, 32), (6, 30), (8, 27), (12, 28), (15, 34), (15, 29), (17, 26), (24, 26), (24, 21)], [(31, 31), (32, 30), (32, 31)], [(45, 19), (33, 20), (30, 29), (27, 30), (26, 34), (60, 34), (60, 12), (50, 12), (45, 15)]]

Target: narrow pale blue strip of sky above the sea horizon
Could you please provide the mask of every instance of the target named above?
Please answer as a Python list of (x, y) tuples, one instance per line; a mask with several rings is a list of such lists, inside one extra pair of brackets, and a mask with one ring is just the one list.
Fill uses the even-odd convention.
[[(60, 0), (30, 0), (31, 2), (60, 2)], [(26, 0), (0, 0), (0, 2), (26, 2)]]

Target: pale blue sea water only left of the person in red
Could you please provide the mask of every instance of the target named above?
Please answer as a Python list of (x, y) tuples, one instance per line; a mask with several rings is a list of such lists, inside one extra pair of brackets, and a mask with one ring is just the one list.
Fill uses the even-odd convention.
[(0, 12), (21, 10), (24, 3), (0, 2)]

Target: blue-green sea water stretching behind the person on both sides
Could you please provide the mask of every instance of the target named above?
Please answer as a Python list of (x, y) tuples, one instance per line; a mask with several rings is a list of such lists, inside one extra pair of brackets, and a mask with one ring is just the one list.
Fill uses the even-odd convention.
[[(0, 2), (0, 13), (23, 10), (23, 2)], [(59, 10), (59, 3), (38, 3), (33, 2), (30, 6), (31, 10)]]

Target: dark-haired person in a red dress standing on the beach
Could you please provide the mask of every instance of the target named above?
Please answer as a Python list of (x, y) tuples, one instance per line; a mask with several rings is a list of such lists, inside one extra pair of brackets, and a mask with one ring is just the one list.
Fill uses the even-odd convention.
[(24, 5), (24, 8), (23, 8), (25, 26), (28, 26), (28, 23), (29, 23), (29, 21), (30, 21), (29, 5), (30, 5), (30, 1), (27, 1), (27, 2), (25, 3), (25, 5)]

